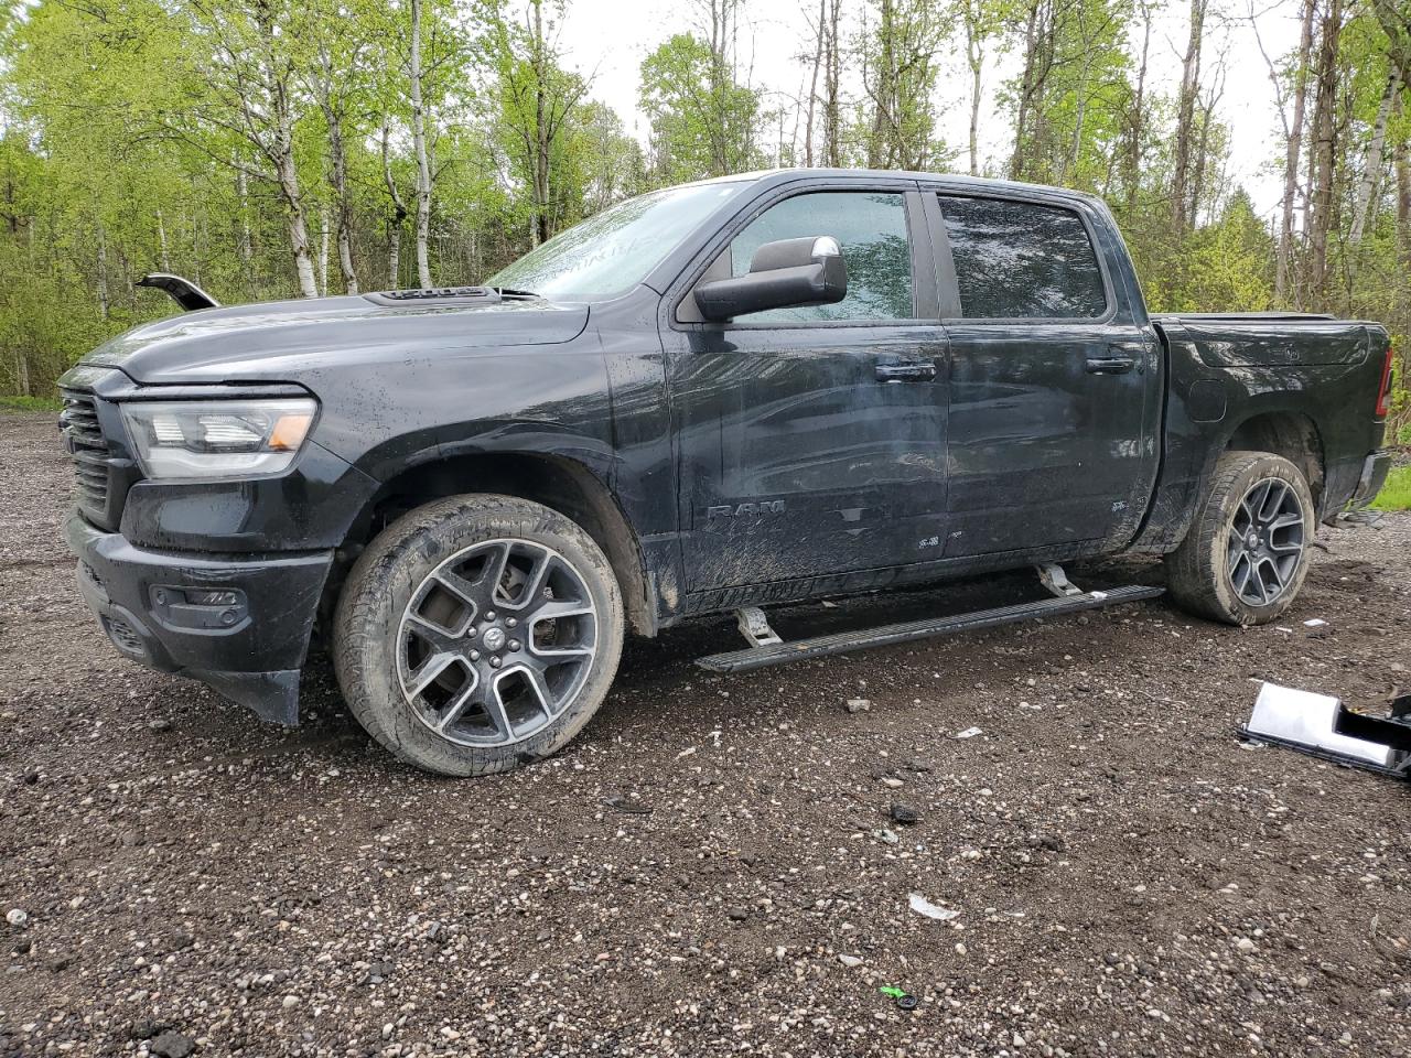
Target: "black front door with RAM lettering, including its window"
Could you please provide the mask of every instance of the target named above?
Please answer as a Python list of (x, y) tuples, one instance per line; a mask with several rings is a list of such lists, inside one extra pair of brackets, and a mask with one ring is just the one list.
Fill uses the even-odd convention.
[(832, 236), (847, 299), (718, 324), (690, 322), (686, 293), (663, 337), (689, 591), (938, 557), (947, 361), (924, 223), (909, 182), (783, 192), (708, 275)]

